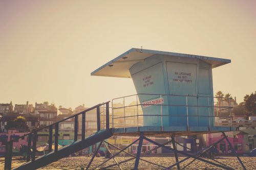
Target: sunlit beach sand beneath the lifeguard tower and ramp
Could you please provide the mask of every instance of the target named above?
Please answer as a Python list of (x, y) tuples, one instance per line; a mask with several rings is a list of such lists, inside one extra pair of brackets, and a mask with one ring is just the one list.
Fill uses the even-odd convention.
[[(129, 159), (129, 158), (131, 158), (131, 157), (116, 157), (118, 162), (125, 160), (125, 159)], [(183, 158), (184, 157), (179, 157), (180, 160)], [(91, 159), (91, 157), (84, 157), (84, 156), (67, 157), (67, 158), (62, 158), (56, 162), (53, 162), (53, 163), (51, 163), (45, 167), (39, 168), (39, 169), (44, 169), (44, 170), (46, 170), (46, 169), (79, 169), (80, 170), (83, 168), (86, 169), (86, 166), (89, 163), (90, 159)], [(157, 164), (161, 164), (162, 166), (166, 166), (166, 167), (175, 162), (174, 157), (143, 157), (143, 159), (152, 161)], [(95, 169), (95, 167), (97, 165), (100, 165), (100, 163), (102, 163), (104, 160), (106, 160), (104, 157), (95, 157), (90, 169)], [(190, 158), (189, 160), (181, 163), (181, 168), (191, 160), (193, 160), (193, 159)], [(207, 159), (207, 160), (209, 160), (209, 159)], [(234, 169), (243, 169), (236, 157), (218, 157), (216, 160), (219, 162), (222, 162)], [(243, 163), (245, 164), (245, 166), (248, 170), (256, 169), (256, 157), (241, 157), (241, 160), (243, 161)], [(133, 169), (134, 162), (135, 162), (135, 160), (132, 160), (132, 161), (123, 163), (120, 166), (123, 169)], [(25, 162), (17, 160), (17, 157), (13, 158), (12, 167), (17, 167), (18, 165), (23, 164), (23, 163), (25, 163)], [(113, 163), (114, 163), (114, 160), (111, 159), (110, 161), (106, 162), (104, 164), (104, 166), (110, 165)], [(104, 167), (104, 166), (102, 166), (102, 167)], [(0, 158), (0, 169), (4, 169), (4, 158), (3, 157)], [(113, 166), (108, 169), (119, 169), (119, 167)], [(139, 169), (146, 170), (146, 169), (163, 169), (163, 168), (140, 160)], [(172, 169), (177, 169), (177, 168), (175, 166)], [(222, 168), (212, 166), (210, 164), (207, 164), (207, 163), (204, 163), (201, 161), (194, 161), (192, 164), (190, 164), (185, 169), (212, 169), (213, 170), (213, 169), (222, 169)]]

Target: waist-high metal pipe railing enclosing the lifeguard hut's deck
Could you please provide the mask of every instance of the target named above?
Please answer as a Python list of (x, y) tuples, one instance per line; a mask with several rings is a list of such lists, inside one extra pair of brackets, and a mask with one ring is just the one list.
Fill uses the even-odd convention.
[[(174, 102), (169, 102), (173, 98)], [(175, 98), (181, 102), (176, 102)], [(160, 102), (159, 102), (160, 100)], [(161, 101), (162, 100), (162, 101)], [(166, 101), (167, 102), (166, 102)], [(191, 102), (191, 100), (196, 100)], [(201, 102), (200, 102), (201, 100)], [(141, 103), (139, 101), (142, 101)], [(157, 101), (154, 103), (154, 101)], [(199, 101), (199, 102), (198, 102)], [(163, 127), (163, 119), (166, 117), (186, 117), (186, 126), (189, 127), (189, 119), (192, 117), (207, 117), (208, 126), (218, 126), (219, 119), (228, 119), (230, 127), (232, 126), (232, 115), (231, 115), (231, 98), (220, 98), (213, 96), (202, 96), (202, 95), (178, 95), (178, 94), (148, 94), (139, 93), (134, 95), (127, 95), (121, 98), (115, 98), (112, 100), (112, 127), (139, 127), (143, 126), (143, 119), (145, 117), (152, 117), (152, 119), (159, 120), (160, 126)], [(192, 103), (192, 104), (191, 104)], [(203, 103), (203, 104), (202, 104)], [(223, 103), (227, 106), (223, 106)], [(155, 107), (155, 114), (145, 114), (146, 107)], [(168, 108), (181, 108), (183, 107), (184, 113), (181, 115), (169, 114), (166, 112)], [(157, 109), (156, 109), (157, 108)], [(195, 114), (191, 115), (191, 110), (194, 109)], [(202, 109), (201, 115), (198, 114), (199, 110)], [(164, 111), (165, 110), (165, 111)], [(204, 112), (202, 114), (202, 112)], [(167, 113), (167, 114), (166, 114)], [(225, 113), (226, 115), (221, 115)], [(127, 124), (127, 121), (129, 124)]]

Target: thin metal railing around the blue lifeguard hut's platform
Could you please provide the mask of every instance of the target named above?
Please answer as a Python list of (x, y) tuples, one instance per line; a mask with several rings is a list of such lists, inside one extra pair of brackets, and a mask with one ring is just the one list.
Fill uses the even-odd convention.
[[(172, 96), (176, 96), (177, 98), (181, 98), (181, 99), (185, 99), (185, 101), (182, 101), (180, 103), (172, 103), (170, 102), (169, 100), (167, 100), (168, 102), (167, 103), (164, 103), (164, 102), (148, 102), (148, 101), (151, 101), (153, 99), (162, 99), (162, 98), (172, 98)], [(145, 98), (144, 98), (145, 97)], [(142, 98), (142, 100), (140, 100), (140, 103), (138, 103), (138, 98)], [(205, 101), (207, 103), (208, 101), (208, 104), (202, 104), (202, 103), (197, 103), (197, 104), (194, 104), (194, 103), (188, 103), (188, 99), (203, 99), (203, 101)], [(205, 100), (204, 100), (205, 99)], [(130, 103), (130, 104), (125, 104), (125, 100), (127, 101), (130, 101), (130, 102), (136, 102), (137, 101), (137, 104), (134, 104), (134, 103)], [(217, 105), (215, 105), (214, 103), (215, 100), (218, 100), (217, 102)], [(225, 118), (228, 118), (230, 119), (230, 121), (232, 121), (232, 115), (231, 115), (231, 109), (233, 108), (231, 105), (230, 105), (230, 102), (231, 102), (232, 98), (225, 98), (225, 97), (221, 97), (221, 96), (213, 96), (213, 95), (207, 95), (207, 96), (202, 96), (202, 95), (190, 95), (190, 94), (187, 94), (187, 95), (184, 95), (184, 94), (152, 94), (152, 93), (138, 93), (138, 94), (133, 94), (133, 95), (127, 95), (127, 96), (122, 96), (120, 98), (115, 98), (112, 100), (112, 124), (113, 124), (113, 127), (114, 127), (114, 120), (117, 120), (117, 121), (121, 121), (123, 122), (124, 124), (126, 123), (125, 121), (125, 118), (133, 118), (134, 117), (134, 120), (129, 120), (129, 122), (134, 122), (134, 127), (136, 126), (136, 124), (139, 123), (139, 119), (138, 117), (141, 117), (141, 116), (157, 116), (161, 118), (160, 122), (159, 122), (159, 118), (156, 119), (157, 123), (161, 123), (161, 127), (163, 127), (162, 123), (163, 123), (163, 117), (166, 117), (166, 116), (175, 116), (175, 115), (165, 115), (163, 114), (163, 111), (162, 111), (162, 108), (163, 107), (185, 107), (186, 108), (186, 115), (182, 115), (183, 117), (187, 117), (187, 128), (189, 128), (189, 122), (190, 120), (188, 119), (189, 117), (208, 117), (208, 120), (209, 121), (209, 129), (211, 128), (211, 125), (214, 123), (214, 119), (212, 118), (218, 118), (218, 119), (223, 119), (223, 117)], [(229, 103), (229, 106), (221, 106), (219, 105), (221, 102), (224, 102), (224, 101), (227, 101)], [(185, 102), (185, 103), (184, 103)], [(120, 104), (120, 105), (114, 105), (115, 104)], [(139, 114), (139, 109), (138, 107), (140, 107), (140, 111), (143, 112), (143, 108), (147, 107), (147, 106), (155, 106), (155, 107), (159, 107), (158, 109), (158, 112), (159, 114), (155, 114), (155, 115), (152, 115), (152, 114), (148, 114), (148, 115), (145, 115), (145, 114)], [(137, 110), (136, 108), (137, 107)], [(204, 111), (205, 114), (208, 112), (207, 115), (189, 115), (189, 108), (206, 108), (208, 111)], [(120, 109), (120, 110), (119, 110)], [(121, 114), (121, 110), (123, 109), (123, 112), (125, 111), (129, 111), (129, 109), (134, 109), (136, 110), (137, 114), (135, 115), (131, 115), (133, 113), (130, 113), (128, 116), (123, 114), (123, 115), (115, 115), (114, 112), (116, 112), (116, 114)], [(216, 110), (217, 109), (217, 110)], [(230, 115), (229, 116), (219, 116), (219, 113), (222, 113), (222, 111), (224, 110), (229, 110), (229, 113)], [(215, 112), (217, 111), (217, 116), (216, 115), (213, 115), (215, 114)], [(136, 120), (135, 120), (135, 117), (137, 116), (137, 123), (136, 123)], [(180, 115), (177, 115), (177, 116), (180, 116)], [(122, 120), (123, 119), (123, 120)], [(216, 120), (215, 120), (216, 121)], [(124, 129), (126, 127), (124, 126)], [(138, 125), (137, 125), (137, 128)]]

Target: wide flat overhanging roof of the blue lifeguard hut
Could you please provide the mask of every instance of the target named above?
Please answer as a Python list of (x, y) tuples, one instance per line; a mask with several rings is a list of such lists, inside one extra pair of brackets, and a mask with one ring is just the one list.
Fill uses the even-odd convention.
[(221, 59), (214, 57), (172, 53), (172, 52), (162, 52), (155, 50), (141, 50), (139, 48), (131, 48), (131, 50), (121, 54), (110, 62), (102, 65), (91, 73), (91, 76), (105, 76), (105, 77), (119, 77), (119, 78), (131, 78), (129, 69), (137, 62), (144, 61), (147, 57), (151, 57), (155, 54), (165, 55), (165, 56), (175, 56), (175, 57), (186, 57), (186, 58), (196, 58), (202, 60), (206, 63), (211, 64), (212, 68), (230, 63), (229, 59)]

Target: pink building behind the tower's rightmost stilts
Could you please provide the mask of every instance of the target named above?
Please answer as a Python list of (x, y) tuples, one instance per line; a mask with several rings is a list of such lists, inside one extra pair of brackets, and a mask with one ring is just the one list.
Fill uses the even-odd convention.
[[(243, 153), (243, 138), (244, 135), (239, 133), (236, 134), (234, 132), (225, 132), (228, 140), (230, 141), (232, 147), (238, 154)], [(205, 145), (208, 147), (210, 144), (215, 143), (216, 141), (220, 140), (224, 136), (222, 133), (211, 133), (211, 134), (205, 134), (204, 139), (206, 141)], [(231, 153), (231, 148), (229, 147), (228, 142), (224, 139), (220, 143), (217, 144), (217, 150), (221, 154), (227, 154)]]

